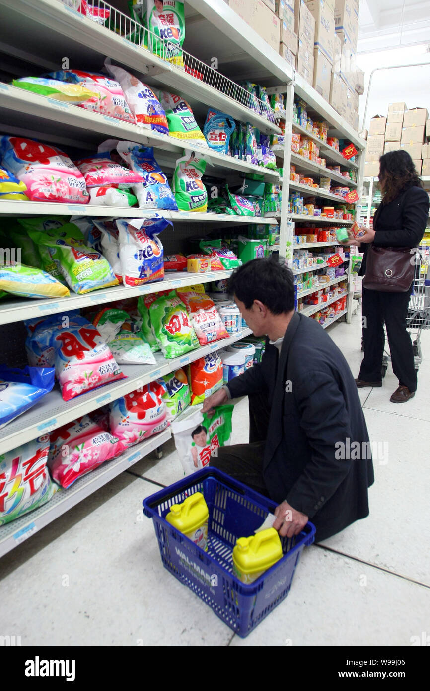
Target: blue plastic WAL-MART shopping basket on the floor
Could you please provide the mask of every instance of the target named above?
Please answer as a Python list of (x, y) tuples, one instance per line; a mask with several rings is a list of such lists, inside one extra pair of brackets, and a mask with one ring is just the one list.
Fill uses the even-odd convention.
[[(172, 504), (202, 492), (209, 509), (205, 552), (166, 521)], [(260, 527), (276, 504), (217, 468), (204, 468), (147, 497), (144, 513), (153, 518), (162, 562), (202, 598), (217, 616), (244, 638), (289, 594), (302, 549), (311, 545), (308, 523), (295, 538), (281, 538), (284, 556), (254, 583), (233, 576), (233, 547)]]

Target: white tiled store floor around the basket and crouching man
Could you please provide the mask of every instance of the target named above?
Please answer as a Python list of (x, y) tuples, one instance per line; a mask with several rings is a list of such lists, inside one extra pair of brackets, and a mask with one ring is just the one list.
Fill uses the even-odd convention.
[[(331, 337), (358, 375), (360, 315)], [(430, 334), (422, 339), (416, 397), (389, 402), (397, 381), (360, 390), (375, 457), (371, 515), (304, 550), (289, 596), (242, 640), (162, 567), (141, 501), (175, 482), (173, 442), (0, 560), (2, 635), (22, 645), (411, 645), (428, 631), (429, 526), (425, 430), (430, 419)], [(233, 443), (246, 442), (246, 400)], [(427, 468), (426, 468), (427, 466)]]

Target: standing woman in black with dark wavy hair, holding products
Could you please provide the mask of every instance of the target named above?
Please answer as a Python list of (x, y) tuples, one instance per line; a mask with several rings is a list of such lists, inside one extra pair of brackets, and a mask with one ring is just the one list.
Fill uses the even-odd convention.
[[(379, 185), (382, 202), (373, 218), (373, 230), (367, 229), (359, 242), (365, 243), (360, 275), (366, 274), (369, 245), (375, 247), (418, 247), (429, 216), (429, 196), (422, 189), (411, 156), (406, 151), (390, 151), (380, 158)], [(408, 254), (408, 253), (406, 253)], [(413, 251), (409, 254), (414, 262)], [(365, 282), (365, 279), (364, 279)], [(393, 372), (399, 380), (398, 389), (390, 398), (393, 403), (409, 401), (416, 392), (417, 373), (413, 345), (406, 328), (412, 285), (406, 292), (384, 292), (363, 287), (364, 359), (357, 386), (382, 386), (384, 355), (384, 322), (387, 327)]]

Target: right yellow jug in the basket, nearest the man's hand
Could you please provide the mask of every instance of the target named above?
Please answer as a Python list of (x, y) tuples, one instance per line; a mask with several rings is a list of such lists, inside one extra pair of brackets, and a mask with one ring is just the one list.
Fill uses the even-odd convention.
[(233, 548), (233, 573), (242, 583), (253, 583), (281, 557), (280, 536), (274, 528), (268, 528), (251, 538), (237, 540)]

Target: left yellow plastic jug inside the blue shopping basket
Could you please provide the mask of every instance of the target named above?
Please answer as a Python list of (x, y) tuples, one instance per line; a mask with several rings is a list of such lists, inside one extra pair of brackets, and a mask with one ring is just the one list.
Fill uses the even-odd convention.
[(204, 551), (208, 549), (209, 510), (202, 492), (195, 492), (182, 504), (173, 504), (166, 521), (184, 533)]

